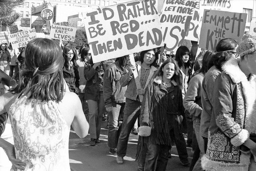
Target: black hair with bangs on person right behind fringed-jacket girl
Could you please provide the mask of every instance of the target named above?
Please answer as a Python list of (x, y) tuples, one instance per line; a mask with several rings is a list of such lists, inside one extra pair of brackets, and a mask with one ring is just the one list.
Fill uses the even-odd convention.
[[(186, 55), (186, 54), (189, 56), (189, 58), (188, 58), (187, 63), (184, 64), (184, 62), (182, 60), (182, 56)], [(187, 46), (180, 46), (177, 49), (176, 54), (175, 54), (175, 60), (178, 62), (179, 68), (181, 68), (183, 66), (183, 64), (185, 65), (186, 68), (190, 68), (191, 67), (190, 66), (191, 54), (190, 54), (190, 51), (187, 48)]]

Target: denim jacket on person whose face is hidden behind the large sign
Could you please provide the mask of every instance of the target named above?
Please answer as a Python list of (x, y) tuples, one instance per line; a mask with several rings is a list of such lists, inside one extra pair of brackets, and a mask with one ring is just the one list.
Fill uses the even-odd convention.
[(123, 71), (118, 62), (114, 62), (107, 67), (103, 77), (103, 95), (106, 108), (111, 107), (112, 102), (124, 103), (126, 86), (120, 85), (120, 77)]

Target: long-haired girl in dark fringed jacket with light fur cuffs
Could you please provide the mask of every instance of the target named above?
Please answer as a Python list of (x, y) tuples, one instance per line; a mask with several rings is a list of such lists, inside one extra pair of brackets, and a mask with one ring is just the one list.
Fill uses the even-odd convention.
[[(177, 62), (167, 59), (148, 84), (141, 105), (138, 170), (154, 170), (156, 163), (156, 170), (166, 170), (170, 146), (174, 143), (179, 146), (177, 140), (184, 138), (181, 86)], [(144, 149), (148, 149), (146, 154)]]

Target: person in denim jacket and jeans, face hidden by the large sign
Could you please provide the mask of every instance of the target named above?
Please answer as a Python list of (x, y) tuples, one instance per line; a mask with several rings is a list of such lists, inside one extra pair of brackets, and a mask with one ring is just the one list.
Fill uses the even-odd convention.
[(108, 147), (111, 154), (116, 155), (118, 137), (121, 131), (120, 119), (123, 118), (126, 86), (120, 85), (124, 68), (129, 63), (129, 55), (119, 57), (105, 70), (103, 77), (103, 94), (108, 112)]

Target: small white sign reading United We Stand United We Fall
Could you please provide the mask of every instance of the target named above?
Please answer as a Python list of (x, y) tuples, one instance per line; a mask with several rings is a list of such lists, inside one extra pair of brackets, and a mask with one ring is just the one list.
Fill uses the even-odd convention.
[(29, 41), (36, 38), (35, 28), (14, 33), (10, 35), (10, 42), (12, 43), (12, 48), (24, 47), (28, 44)]

